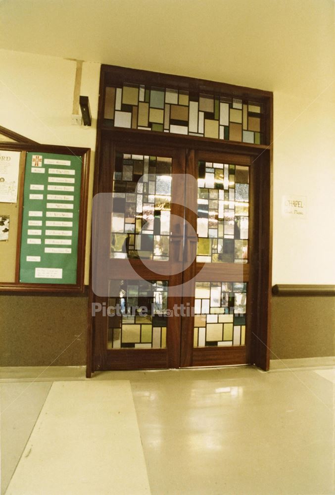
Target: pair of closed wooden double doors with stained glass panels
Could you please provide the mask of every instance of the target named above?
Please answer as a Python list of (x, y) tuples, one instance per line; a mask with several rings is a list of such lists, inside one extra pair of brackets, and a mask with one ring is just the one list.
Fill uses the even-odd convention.
[(105, 139), (99, 160), (92, 371), (255, 362), (254, 156)]

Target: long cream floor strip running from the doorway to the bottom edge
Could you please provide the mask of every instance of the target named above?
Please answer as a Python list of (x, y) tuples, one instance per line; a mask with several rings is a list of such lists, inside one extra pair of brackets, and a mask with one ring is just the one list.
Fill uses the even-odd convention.
[(54, 382), (6, 495), (149, 493), (129, 382)]

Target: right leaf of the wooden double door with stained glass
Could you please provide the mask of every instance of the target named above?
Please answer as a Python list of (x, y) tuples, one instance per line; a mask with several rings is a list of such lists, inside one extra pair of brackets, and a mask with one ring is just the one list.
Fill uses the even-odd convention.
[[(245, 155), (192, 152), (196, 217), (188, 214), (181, 366), (243, 364), (248, 358), (249, 266), (252, 256), (251, 160)], [(196, 230), (197, 239), (190, 232)], [(251, 312), (251, 311), (250, 311)]]

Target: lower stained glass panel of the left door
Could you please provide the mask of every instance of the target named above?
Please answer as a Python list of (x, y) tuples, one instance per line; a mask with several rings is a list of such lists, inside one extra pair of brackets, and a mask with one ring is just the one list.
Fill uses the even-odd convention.
[(111, 281), (107, 349), (166, 348), (167, 281)]

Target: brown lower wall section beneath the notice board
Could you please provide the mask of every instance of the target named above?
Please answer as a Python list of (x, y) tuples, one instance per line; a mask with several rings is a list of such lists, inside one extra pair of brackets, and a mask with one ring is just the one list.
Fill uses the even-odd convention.
[(86, 364), (87, 296), (0, 295), (0, 366)]

